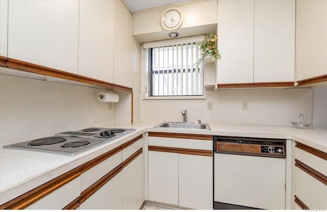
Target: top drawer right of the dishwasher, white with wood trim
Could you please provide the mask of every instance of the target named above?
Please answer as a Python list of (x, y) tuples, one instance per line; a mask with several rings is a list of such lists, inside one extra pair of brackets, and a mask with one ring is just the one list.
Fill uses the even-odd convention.
[[(305, 163), (307, 166), (327, 176), (327, 160), (324, 160), (322, 158), (323, 155), (324, 154), (327, 155), (327, 153), (320, 152), (319, 150), (303, 145), (301, 143), (297, 143), (296, 147), (297, 148), (295, 148), (295, 158), (297, 160), (299, 160), (302, 163)], [(315, 154), (309, 153), (308, 151), (303, 149), (307, 149), (308, 151), (311, 151), (313, 153), (314, 151), (317, 151), (317, 154), (321, 155), (322, 157), (316, 156)]]

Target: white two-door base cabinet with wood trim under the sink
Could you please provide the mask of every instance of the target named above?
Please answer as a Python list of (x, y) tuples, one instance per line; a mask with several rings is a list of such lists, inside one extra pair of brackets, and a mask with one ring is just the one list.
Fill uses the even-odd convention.
[(185, 208), (213, 209), (212, 137), (151, 135), (149, 133), (148, 140), (149, 200)]

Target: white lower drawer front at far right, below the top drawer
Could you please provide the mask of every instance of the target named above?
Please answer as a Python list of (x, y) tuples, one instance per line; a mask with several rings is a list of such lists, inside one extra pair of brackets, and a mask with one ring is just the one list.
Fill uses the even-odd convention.
[(295, 167), (295, 195), (309, 208), (327, 208), (327, 186)]

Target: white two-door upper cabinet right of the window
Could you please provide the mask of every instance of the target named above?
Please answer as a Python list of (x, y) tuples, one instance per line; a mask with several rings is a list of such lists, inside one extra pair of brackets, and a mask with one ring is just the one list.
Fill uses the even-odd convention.
[(218, 0), (218, 84), (294, 82), (295, 0)]

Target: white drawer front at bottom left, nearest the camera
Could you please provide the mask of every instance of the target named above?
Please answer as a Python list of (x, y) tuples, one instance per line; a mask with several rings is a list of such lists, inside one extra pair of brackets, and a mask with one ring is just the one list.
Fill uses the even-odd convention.
[(60, 210), (80, 196), (79, 186), (80, 177), (77, 177), (24, 209)]

